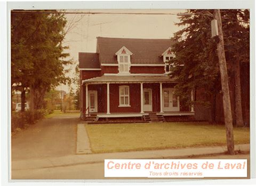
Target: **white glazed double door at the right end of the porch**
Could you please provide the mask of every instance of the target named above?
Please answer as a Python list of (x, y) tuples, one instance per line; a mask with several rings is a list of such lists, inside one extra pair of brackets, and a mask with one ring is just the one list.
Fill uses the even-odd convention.
[(180, 111), (179, 97), (174, 95), (174, 88), (163, 88), (163, 111)]

